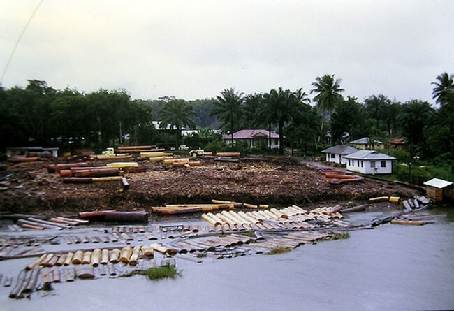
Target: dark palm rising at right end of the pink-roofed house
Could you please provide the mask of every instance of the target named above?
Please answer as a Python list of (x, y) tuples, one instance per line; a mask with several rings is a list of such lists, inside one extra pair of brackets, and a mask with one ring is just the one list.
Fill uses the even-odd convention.
[(295, 93), (289, 89), (272, 89), (270, 93), (264, 94), (263, 99), (265, 106), (263, 115), (268, 115), (268, 120), (278, 125), (279, 131), (279, 153), (284, 154), (284, 124), (290, 122), (297, 117), (300, 111), (300, 103), (298, 102)]

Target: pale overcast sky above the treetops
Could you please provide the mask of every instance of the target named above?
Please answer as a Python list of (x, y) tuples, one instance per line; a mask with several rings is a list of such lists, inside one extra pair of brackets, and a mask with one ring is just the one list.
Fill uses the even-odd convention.
[[(0, 0), (0, 70), (38, 0)], [(44, 0), (3, 87), (212, 97), (342, 78), (344, 95), (431, 99), (454, 73), (454, 1)], [(432, 102), (432, 101), (431, 101)]]

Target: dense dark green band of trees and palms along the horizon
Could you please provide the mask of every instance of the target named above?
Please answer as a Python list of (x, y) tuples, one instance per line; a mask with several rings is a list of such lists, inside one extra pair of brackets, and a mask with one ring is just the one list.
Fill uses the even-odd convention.
[[(284, 147), (314, 152), (365, 136), (384, 142), (403, 136), (411, 157), (453, 159), (453, 75), (443, 73), (432, 82), (437, 107), (418, 99), (400, 103), (383, 94), (362, 102), (344, 98), (341, 84), (334, 75), (323, 75), (307, 92), (279, 87), (263, 94), (243, 94), (224, 89), (216, 98), (185, 101), (173, 97), (131, 100), (124, 90), (86, 94), (29, 80), (25, 88), (0, 87), (0, 145), (2, 149), (57, 145), (65, 150), (99, 150), (119, 144), (178, 145), (182, 143), (181, 129), (198, 128), (206, 130), (184, 138), (184, 143), (219, 147), (220, 136), (207, 129), (219, 128), (229, 134), (239, 129), (268, 129), (280, 134), (281, 152)], [(155, 129), (152, 120), (160, 120), (161, 129), (168, 130)]]

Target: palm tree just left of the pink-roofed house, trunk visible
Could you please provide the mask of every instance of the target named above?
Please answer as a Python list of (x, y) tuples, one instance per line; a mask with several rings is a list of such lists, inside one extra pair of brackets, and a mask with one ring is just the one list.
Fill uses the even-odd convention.
[(221, 96), (216, 96), (217, 101), (214, 102), (214, 108), (210, 115), (217, 115), (221, 120), (221, 126), (230, 129), (233, 145), (233, 129), (235, 124), (241, 121), (242, 103), (244, 101), (243, 93), (235, 92), (235, 89), (224, 89)]

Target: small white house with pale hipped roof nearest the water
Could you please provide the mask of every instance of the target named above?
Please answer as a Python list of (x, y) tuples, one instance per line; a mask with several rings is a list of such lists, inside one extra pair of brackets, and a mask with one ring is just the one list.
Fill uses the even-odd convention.
[(374, 150), (360, 150), (346, 155), (347, 170), (363, 174), (390, 174), (395, 157)]

